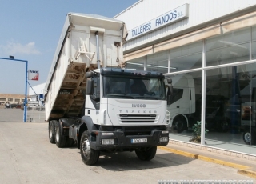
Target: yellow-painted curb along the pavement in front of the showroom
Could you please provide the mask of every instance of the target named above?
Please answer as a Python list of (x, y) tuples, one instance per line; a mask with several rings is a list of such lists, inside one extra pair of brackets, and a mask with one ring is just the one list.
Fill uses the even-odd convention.
[(217, 164), (222, 165), (222, 166), (229, 166), (229, 167), (232, 167), (234, 169), (238, 169), (238, 174), (246, 175), (246, 176), (249, 176), (250, 178), (256, 178), (256, 172), (250, 170), (249, 166), (243, 166), (243, 165), (236, 164), (236, 163), (233, 163), (233, 162), (226, 162), (226, 161), (223, 161), (223, 160), (218, 160), (218, 159), (215, 159), (215, 158), (202, 156), (200, 154), (192, 154), (192, 153), (189, 153), (189, 152), (186, 152), (186, 151), (175, 150), (175, 149), (172, 149), (172, 148), (169, 148), (169, 147), (164, 147), (164, 146), (158, 146), (158, 148), (160, 148), (161, 150), (169, 151), (169, 152), (174, 153), (174, 154), (180, 154), (180, 155), (185, 156), (185, 157), (194, 158), (194, 159), (198, 159), (198, 160), (202, 160), (202, 161), (206, 161), (206, 162), (217, 163)]

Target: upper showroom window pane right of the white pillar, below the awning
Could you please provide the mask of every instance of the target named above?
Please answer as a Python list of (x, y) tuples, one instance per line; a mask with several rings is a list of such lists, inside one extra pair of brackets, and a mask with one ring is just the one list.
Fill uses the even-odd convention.
[(206, 39), (206, 66), (248, 61), (250, 28)]

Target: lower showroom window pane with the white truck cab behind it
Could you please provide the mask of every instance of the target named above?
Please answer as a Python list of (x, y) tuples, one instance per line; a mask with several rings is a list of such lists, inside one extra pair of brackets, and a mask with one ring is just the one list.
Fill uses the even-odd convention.
[(167, 110), (170, 112), (171, 138), (190, 141), (194, 132), (191, 127), (201, 122), (202, 72), (175, 74), (172, 79), (174, 96)]

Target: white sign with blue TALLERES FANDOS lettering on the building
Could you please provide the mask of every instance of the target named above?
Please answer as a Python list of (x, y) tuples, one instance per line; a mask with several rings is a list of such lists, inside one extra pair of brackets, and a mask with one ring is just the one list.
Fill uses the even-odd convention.
[(188, 4), (184, 4), (182, 6), (179, 6), (178, 8), (175, 8), (174, 10), (170, 10), (169, 12), (166, 12), (166, 14), (162, 14), (159, 17), (150, 20), (150, 22), (146, 22), (141, 26), (138, 26), (132, 30), (129, 30), (127, 39), (141, 36), (142, 34), (149, 33), (150, 31), (156, 30), (162, 26), (166, 26), (166, 25), (169, 25), (170, 23), (174, 23), (184, 18), (188, 18), (189, 17), (188, 10), (189, 10)]

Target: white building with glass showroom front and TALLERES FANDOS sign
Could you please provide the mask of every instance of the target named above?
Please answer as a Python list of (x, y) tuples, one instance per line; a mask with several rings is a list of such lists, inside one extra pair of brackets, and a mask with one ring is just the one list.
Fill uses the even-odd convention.
[(170, 138), (256, 156), (256, 0), (141, 0), (126, 22), (127, 68), (172, 79)]

